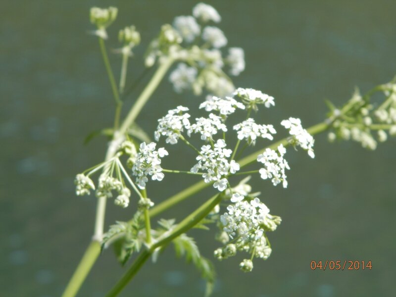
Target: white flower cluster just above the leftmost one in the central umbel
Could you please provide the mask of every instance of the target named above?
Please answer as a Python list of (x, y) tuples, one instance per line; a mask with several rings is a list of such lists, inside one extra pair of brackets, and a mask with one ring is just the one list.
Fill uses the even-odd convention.
[(154, 132), (154, 138), (159, 140), (160, 136), (166, 136), (166, 143), (171, 145), (177, 144), (177, 141), (184, 131), (184, 128), (190, 128), (190, 114), (187, 107), (178, 106), (168, 111), (168, 114), (158, 120), (157, 130)]

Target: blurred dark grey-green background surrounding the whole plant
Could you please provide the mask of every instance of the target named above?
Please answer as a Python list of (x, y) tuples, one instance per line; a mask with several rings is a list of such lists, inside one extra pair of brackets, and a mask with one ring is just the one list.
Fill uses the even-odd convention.
[[(324, 99), (342, 104), (354, 86), (367, 91), (396, 74), (396, 1), (210, 1), (220, 14), (229, 46), (245, 49), (247, 69), (237, 86), (275, 97), (263, 122), (300, 117), (305, 127), (324, 119)], [(91, 6), (115, 5), (110, 27), (134, 24), (142, 45), (128, 81), (143, 71), (142, 54), (161, 24), (191, 14), (196, 1), (5, 0), (0, 12), (0, 295), (54, 297), (88, 245), (96, 198), (76, 197), (73, 179), (99, 163), (104, 139), (83, 146), (85, 136), (112, 124), (113, 101), (96, 38), (87, 34)], [(111, 56), (118, 77), (120, 58)], [(126, 109), (144, 83), (129, 97)], [(167, 109), (198, 105), (203, 98), (177, 95), (167, 79), (138, 123), (152, 135)], [(125, 111), (125, 110), (124, 110)], [(263, 116), (264, 117), (264, 116)], [(213, 296), (395, 296), (396, 142), (374, 151), (355, 143), (328, 144), (316, 137), (315, 159), (290, 150), (289, 187), (255, 180), (261, 199), (283, 222), (269, 234), (273, 254), (254, 270), (238, 269), (243, 255), (215, 262)], [(174, 153), (176, 150), (177, 153)], [(173, 149), (173, 159), (191, 157)], [(176, 157), (175, 157), (176, 156)], [(168, 164), (170, 164), (168, 163)], [(167, 176), (150, 183), (160, 201), (195, 179)], [(203, 192), (166, 218), (181, 218), (204, 201)], [(126, 220), (127, 209), (108, 204), (106, 225)], [(214, 231), (193, 231), (203, 255), (213, 259)], [(372, 261), (372, 270), (312, 271), (312, 260)], [(214, 259), (213, 259), (214, 260)], [(124, 269), (111, 250), (99, 258), (79, 296), (100, 297)], [(121, 296), (202, 296), (198, 272), (168, 248), (148, 263)]]

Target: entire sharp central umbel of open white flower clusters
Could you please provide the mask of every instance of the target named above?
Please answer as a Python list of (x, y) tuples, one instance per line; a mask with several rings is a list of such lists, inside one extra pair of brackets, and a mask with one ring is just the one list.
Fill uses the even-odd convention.
[[(239, 88), (234, 92), (233, 97), (219, 98), (208, 96), (199, 105), (200, 109), (208, 112), (205, 117), (198, 117), (193, 121), (188, 113), (189, 109), (178, 106), (158, 120), (158, 127), (154, 132), (156, 141), (161, 137), (169, 145), (176, 145), (182, 140), (186, 147), (192, 147), (198, 153), (196, 163), (192, 165), (190, 172), (200, 175), (205, 183), (212, 183), (213, 187), (223, 192), (229, 187), (229, 177), (240, 171), (239, 163), (234, 160), (238, 146), (231, 149), (227, 147), (225, 133), (235, 131), (238, 142), (246, 142), (247, 145), (254, 145), (258, 139), (273, 140), (276, 130), (273, 125), (257, 124), (253, 118), (247, 117), (243, 122), (227, 127), (227, 119), (238, 111), (257, 110), (258, 105), (269, 108), (273, 105), (274, 99), (260, 91), (253, 89)], [(289, 118), (281, 123), (290, 131), (290, 143), (295, 147), (299, 146), (306, 150), (309, 156), (313, 154), (313, 138), (301, 127), (301, 122), (296, 118)], [(220, 133), (221, 132), (221, 133)], [(200, 148), (195, 148), (187, 139), (193, 138), (194, 134), (199, 135), (199, 140), (204, 144)], [(163, 171), (174, 172), (175, 170), (163, 170), (161, 158), (168, 154), (165, 148), (155, 150), (155, 143), (143, 143), (137, 154), (132, 174), (136, 176), (137, 185), (144, 189), (151, 180), (161, 181), (164, 178)], [(287, 187), (286, 169), (290, 169), (285, 159), (286, 148), (279, 145), (276, 150), (267, 148), (257, 155), (257, 161), (261, 168), (257, 170), (262, 179), (269, 179), (273, 185), (283, 184)], [(175, 168), (180, 172), (180, 168)]]

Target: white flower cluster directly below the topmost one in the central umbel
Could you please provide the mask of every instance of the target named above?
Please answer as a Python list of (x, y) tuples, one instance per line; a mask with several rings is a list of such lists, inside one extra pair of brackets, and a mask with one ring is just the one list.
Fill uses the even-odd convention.
[(272, 134), (276, 134), (274, 126), (256, 124), (252, 118), (235, 125), (234, 130), (238, 131), (239, 140), (246, 139), (252, 145), (255, 145), (257, 137), (273, 140)]

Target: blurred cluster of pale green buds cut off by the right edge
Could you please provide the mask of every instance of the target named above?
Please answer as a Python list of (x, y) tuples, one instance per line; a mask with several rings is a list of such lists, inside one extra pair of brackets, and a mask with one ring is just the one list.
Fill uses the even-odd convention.
[(396, 136), (396, 82), (381, 85), (374, 91), (382, 92), (385, 100), (381, 103), (370, 102), (374, 92), (362, 97), (356, 90), (342, 109), (329, 103), (329, 119), (334, 119), (333, 129), (328, 134), (330, 142), (337, 138), (353, 140), (363, 148), (374, 150), (378, 142), (388, 139), (388, 133)]

